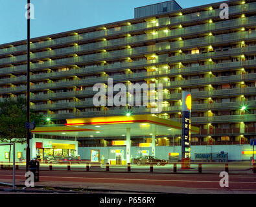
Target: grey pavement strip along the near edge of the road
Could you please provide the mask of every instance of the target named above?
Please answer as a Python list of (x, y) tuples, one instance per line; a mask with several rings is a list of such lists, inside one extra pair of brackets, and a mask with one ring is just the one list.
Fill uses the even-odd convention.
[[(10, 180), (11, 182), (12, 180)], [(17, 181), (16, 186), (24, 186), (24, 181)], [(38, 191), (52, 189), (52, 193), (56, 191), (72, 191), (73, 193), (118, 193), (118, 194), (150, 194), (150, 193), (174, 193), (174, 194), (256, 194), (256, 191), (242, 191), (223, 189), (200, 189), (200, 188), (180, 188), (173, 186), (155, 186), (146, 184), (113, 184), (113, 183), (91, 183), (91, 182), (36, 182), (35, 188), (26, 188), (30, 191)], [(51, 191), (50, 191), (51, 193)]]

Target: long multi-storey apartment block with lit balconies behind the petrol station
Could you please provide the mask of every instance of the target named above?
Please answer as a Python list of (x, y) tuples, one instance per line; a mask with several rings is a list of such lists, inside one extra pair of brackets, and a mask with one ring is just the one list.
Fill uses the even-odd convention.
[[(126, 86), (163, 83), (163, 111), (152, 116), (181, 122), (181, 93), (191, 92), (191, 124), (200, 127), (192, 145), (248, 144), (256, 137), (256, 1), (184, 9), (171, 2), (135, 8), (134, 19), (31, 39), (30, 107), (60, 125), (150, 114), (156, 105), (95, 107), (93, 85), (108, 78)], [(222, 3), (228, 19), (220, 18)], [(26, 76), (27, 41), (0, 45), (0, 99), (26, 97)], [(156, 146), (179, 146), (179, 137), (157, 137)], [(132, 138), (132, 146), (141, 139), (146, 135)], [(85, 147), (111, 143), (78, 140)]]

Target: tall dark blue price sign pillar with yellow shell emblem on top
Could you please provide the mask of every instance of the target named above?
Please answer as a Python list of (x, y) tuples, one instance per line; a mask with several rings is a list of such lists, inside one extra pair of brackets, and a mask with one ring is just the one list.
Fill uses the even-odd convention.
[(181, 169), (190, 168), (191, 103), (191, 94), (187, 91), (182, 91)]

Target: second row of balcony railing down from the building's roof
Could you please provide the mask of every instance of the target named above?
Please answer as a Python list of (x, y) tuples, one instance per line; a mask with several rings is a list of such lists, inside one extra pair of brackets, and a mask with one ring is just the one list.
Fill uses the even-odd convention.
[[(174, 29), (174, 30), (170, 30), (169, 32), (158, 32), (156, 35), (143, 35), (143, 36), (135, 36), (135, 37), (131, 37), (131, 38), (122, 38), (120, 39), (119, 43), (117, 41), (114, 41), (114, 43), (112, 43), (110, 41), (110, 43), (108, 43), (108, 41), (105, 41), (102, 43), (91, 43), (91, 44), (87, 44), (87, 45), (81, 45), (78, 47), (69, 47), (69, 48), (64, 48), (64, 49), (56, 49), (56, 50), (48, 50), (45, 52), (36, 52), (30, 55), (30, 59), (31, 60), (36, 60), (36, 59), (42, 59), (42, 58), (52, 58), (55, 56), (63, 56), (63, 55), (67, 55), (67, 54), (76, 54), (79, 52), (88, 52), (89, 50), (93, 51), (93, 50), (99, 50), (99, 49), (106, 49), (107, 47), (110, 46), (117, 46), (117, 45), (127, 45), (130, 43), (136, 43), (137, 41), (146, 41), (146, 40), (151, 40), (151, 39), (159, 39), (159, 38), (174, 38), (177, 36), (185, 36), (186, 34), (192, 34), (192, 33), (206, 33), (209, 32), (209, 30), (211, 30), (211, 32), (214, 32), (217, 29), (222, 28), (222, 30), (225, 30), (226, 28), (230, 28), (231, 26), (235, 27), (246, 27), (248, 24), (250, 23), (255, 23), (256, 21), (256, 17), (248, 17), (248, 18), (243, 18), (243, 19), (233, 19), (233, 20), (227, 20), (225, 22), (218, 22), (218, 23), (213, 23), (213, 24), (208, 24), (208, 25), (199, 25), (199, 26), (192, 26), (192, 27), (186, 27), (186, 28), (178, 28), (178, 29)], [(125, 40), (126, 41), (125, 41)], [(218, 36), (215, 36), (214, 42), (218, 42)], [(191, 45), (191, 43), (194, 41), (194, 39), (192, 40), (188, 40), (188, 41), (183, 41), (183, 46), (185, 47), (187, 45), (187, 43), (189, 43), (189, 45)], [(198, 39), (197, 41), (198, 43), (200, 43), (200, 40)], [(173, 47), (174, 43), (170, 44), (170, 49), (173, 49), (175, 47)], [(115, 51), (115, 52), (106, 52), (106, 54), (108, 54), (106, 56), (106, 58), (108, 58), (108, 56), (111, 56), (111, 54), (115, 54), (116, 52), (120, 53), (121, 50), (119, 51)], [(132, 51), (132, 54), (135, 54), (135, 50)], [(16, 56), (16, 57), (12, 57), (12, 58), (2, 58), (1, 62), (2, 63), (17, 63), (19, 61), (25, 61), (27, 58), (27, 55), (21, 55), (21, 56)]]

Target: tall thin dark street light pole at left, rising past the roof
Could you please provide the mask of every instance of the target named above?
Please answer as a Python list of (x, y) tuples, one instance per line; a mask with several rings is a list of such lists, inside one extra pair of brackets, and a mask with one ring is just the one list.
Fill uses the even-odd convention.
[[(30, 111), (30, 0), (27, 0), (27, 123), (30, 121), (29, 111)], [(30, 161), (30, 129), (27, 128), (27, 151), (26, 151), (26, 172), (29, 171), (29, 161)]]

